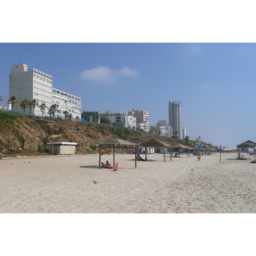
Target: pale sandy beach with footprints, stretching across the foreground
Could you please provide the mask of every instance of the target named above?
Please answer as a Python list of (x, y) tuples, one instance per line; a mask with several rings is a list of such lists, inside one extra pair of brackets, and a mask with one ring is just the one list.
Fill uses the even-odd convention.
[(255, 158), (236, 157), (152, 154), (134, 169), (134, 155), (117, 154), (118, 172), (99, 169), (98, 155), (3, 159), (0, 212), (255, 213)]

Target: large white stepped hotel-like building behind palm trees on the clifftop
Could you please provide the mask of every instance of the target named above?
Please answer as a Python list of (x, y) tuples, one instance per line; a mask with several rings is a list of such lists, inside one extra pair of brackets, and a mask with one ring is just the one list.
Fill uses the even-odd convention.
[[(23, 99), (28, 101), (36, 99), (39, 105), (45, 103), (47, 107), (43, 113), (44, 116), (49, 116), (47, 113), (49, 107), (56, 104), (55, 117), (64, 118), (63, 112), (67, 110), (72, 113), (73, 118), (79, 116), (81, 119), (81, 98), (52, 88), (52, 76), (34, 68), (29, 69), (25, 64), (12, 67), (12, 73), (9, 74), (9, 98), (11, 96), (16, 96), (19, 102)], [(23, 112), (20, 103), (14, 105), (13, 110)], [(29, 114), (29, 108), (26, 114)], [(35, 115), (42, 116), (40, 107), (35, 107)]]

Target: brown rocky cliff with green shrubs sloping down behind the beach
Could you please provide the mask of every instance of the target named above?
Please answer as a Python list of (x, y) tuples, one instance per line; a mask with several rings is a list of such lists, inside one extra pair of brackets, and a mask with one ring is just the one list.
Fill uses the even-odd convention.
[[(41, 121), (41, 122), (40, 122)], [(177, 144), (176, 139), (155, 136), (153, 134), (112, 128), (105, 125), (91, 125), (63, 119), (44, 122), (26, 116), (0, 113), (0, 155), (6, 151), (45, 151), (47, 142), (63, 141), (78, 143), (78, 154), (97, 153), (95, 145), (119, 137), (133, 143), (142, 143), (156, 138), (167, 143)]]

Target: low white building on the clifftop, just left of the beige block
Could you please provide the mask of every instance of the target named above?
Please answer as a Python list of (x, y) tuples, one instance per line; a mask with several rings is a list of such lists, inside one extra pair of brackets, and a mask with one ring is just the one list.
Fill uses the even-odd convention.
[(136, 127), (136, 118), (134, 116), (128, 115), (128, 113), (111, 113), (110, 110), (106, 111), (105, 113), (99, 113), (99, 118), (105, 116), (107, 117), (112, 123), (113, 122), (122, 122), (123, 127), (125, 128), (135, 128)]

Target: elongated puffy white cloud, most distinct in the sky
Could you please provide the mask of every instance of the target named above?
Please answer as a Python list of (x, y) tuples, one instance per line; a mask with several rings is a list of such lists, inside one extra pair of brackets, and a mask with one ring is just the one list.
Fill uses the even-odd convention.
[(117, 80), (117, 76), (135, 78), (138, 75), (139, 72), (137, 70), (132, 70), (129, 67), (123, 67), (121, 70), (111, 70), (109, 67), (96, 67), (83, 71), (80, 78), (99, 82), (114, 82)]

